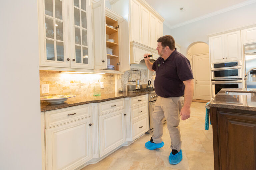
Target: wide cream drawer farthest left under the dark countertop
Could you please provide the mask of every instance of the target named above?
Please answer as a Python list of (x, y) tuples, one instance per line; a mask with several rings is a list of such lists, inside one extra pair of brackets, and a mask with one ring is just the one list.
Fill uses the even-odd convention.
[(91, 104), (72, 106), (45, 112), (45, 128), (91, 116)]

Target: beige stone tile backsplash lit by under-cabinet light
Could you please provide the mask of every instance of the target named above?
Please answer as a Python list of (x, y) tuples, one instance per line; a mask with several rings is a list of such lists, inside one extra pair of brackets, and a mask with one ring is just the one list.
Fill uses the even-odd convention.
[[(94, 82), (104, 82), (101, 94), (115, 93), (113, 74), (76, 74), (40, 70), (40, 96), (75, 94), (77, 97), (93, 96)], [(49, 93), (42, 94), (41, 85), (49, 84)], [(75, 100), (70, 98), (70, 100)]]

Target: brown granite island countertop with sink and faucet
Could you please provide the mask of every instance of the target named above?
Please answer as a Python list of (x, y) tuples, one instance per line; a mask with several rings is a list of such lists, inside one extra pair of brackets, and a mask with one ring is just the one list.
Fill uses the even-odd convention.
[[(230, 93), (226, 94), (225, 92)], [(232, 94), (234, 91), (239, 91), (239, 94)], [(246, 91), (253, 91), (250, 93), (243, 93)], [(256, 89), (228, 89), (223, 88), (219, 93), (210, 101), (210, 107), (228, 108), (256, 111)]]

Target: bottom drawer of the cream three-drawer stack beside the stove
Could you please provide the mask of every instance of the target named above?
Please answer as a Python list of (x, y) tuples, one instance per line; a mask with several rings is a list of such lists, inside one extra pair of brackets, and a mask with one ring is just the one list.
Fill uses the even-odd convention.
[(140, 137), (149, 130), (148, 116), (132, 124), (132, 140)]

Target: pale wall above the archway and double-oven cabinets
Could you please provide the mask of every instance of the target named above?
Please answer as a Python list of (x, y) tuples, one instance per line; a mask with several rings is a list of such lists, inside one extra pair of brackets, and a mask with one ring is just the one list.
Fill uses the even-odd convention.
[(186, 54), (188, 46), (193, 42), (206, 42), (209, 44), (207, 34), (222, 32), (243, 25), (255, 24), (255, 9), (256, 3), (253, 3), (172, 30), (164, 25), (163, 33), (164, 35), (172, 35), (175, 41), (181, 45), (181, 53)]

